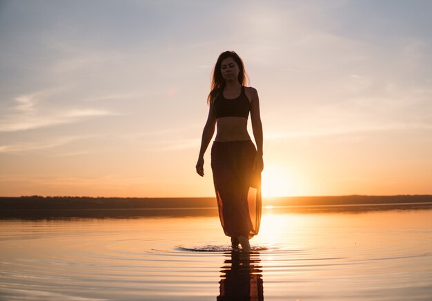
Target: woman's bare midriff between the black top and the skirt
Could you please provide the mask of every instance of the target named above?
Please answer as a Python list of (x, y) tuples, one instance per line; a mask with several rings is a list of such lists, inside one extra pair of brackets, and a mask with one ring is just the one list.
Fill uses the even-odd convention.
[(217, 133), (215, 141), (251, 140), (248, 133), (248, 119), (244, 117), (219, 117), (216, 119)]

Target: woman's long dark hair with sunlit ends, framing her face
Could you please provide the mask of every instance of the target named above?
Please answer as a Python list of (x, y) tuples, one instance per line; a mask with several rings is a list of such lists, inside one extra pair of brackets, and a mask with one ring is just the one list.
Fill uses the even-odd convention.
[(233, 58), (237, 66), (239, 66), (239, 77), (238, 77), (239, 83), (242, 86), (246, 86), (249, 84), (248, 74), (246, 73), (243, 61), (242, 59), (240, 59), (239, 55), (237, 55), (235, 51), (222, 52), (217, 58), (215, 66), (213, 67), (212, 79), (210, 84), (210, 93), (208, 93), (207, 96), (207, 104), (210, 104), (210, 99), (212, 99), (212, 97), (215, 97), (215, 95), (217, 95), (217, 93), (219, 93), (226, 85), (225, 79), (224, 77), (222, 77), (221, 65), (222, 65), (222, 61), (224, 59), (227, 59), (228, 57)]

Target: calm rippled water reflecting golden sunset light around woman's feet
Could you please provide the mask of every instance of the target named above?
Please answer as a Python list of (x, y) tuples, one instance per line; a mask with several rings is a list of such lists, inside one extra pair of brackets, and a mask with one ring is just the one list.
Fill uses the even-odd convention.
[(0, 298), (432, 297), (431, 208), (265, 209), (250, 256), (232, 253), (228, 242), (215, 215), (0, 220)]

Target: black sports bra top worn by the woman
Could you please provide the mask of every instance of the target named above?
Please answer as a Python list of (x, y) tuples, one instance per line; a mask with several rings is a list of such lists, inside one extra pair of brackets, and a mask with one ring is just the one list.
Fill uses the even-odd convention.
[(240, 96), (234, 99), (226, 99), (224, 91), (221, 89), (213, 104), (215, 105), (216, 119), (219, 117), (244, 117), (248, 119), (251, 110), (251, 102), (244, 93), (244, 86), (242, 86)]

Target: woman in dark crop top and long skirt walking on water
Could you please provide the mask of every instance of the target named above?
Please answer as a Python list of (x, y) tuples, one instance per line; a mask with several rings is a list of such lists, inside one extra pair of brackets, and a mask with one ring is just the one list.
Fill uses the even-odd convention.
[[(233, 247), (242, 244), (243, 251), (249, 252), (249, 239), (258, 234), (261, 221), (264, 163), (258, 93), (255, 88), (245, 86), (246, 77), (237, 53), (226, 51), (219, 55), (207, 97), (210, 108), (196, 168), (204, 176), (204, 153), (217, 124), (211, 167), (219, 217)], [(247, 130), (249, 112), (257, 149)]]

